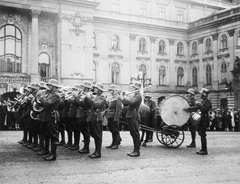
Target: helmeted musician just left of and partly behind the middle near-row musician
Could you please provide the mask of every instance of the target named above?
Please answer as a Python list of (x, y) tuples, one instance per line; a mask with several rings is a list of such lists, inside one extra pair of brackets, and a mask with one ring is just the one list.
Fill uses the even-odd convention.
[(90, 133), (89, 133), (89, 124), (87, 122), (87, 117), (89, 113), (89, 109), (91, 108), (90, 104), (84, 102), (84, 98), (86, 94), (89, 93), (92, 88), (92, 84), (88, 81), (84, 81), (82, 86), (82, 94), (81, 96), (75, 97), (75, 103), (79, 105), (76, 115), (76, 129), (78, 130), (77, 142), (79, 145), (80, 141), (80, 133), (83, 134), (84, 146), (81, 150), (78, 150), (78, 153), (85, 154), (89, 153), (89, 143), (90, 143)]

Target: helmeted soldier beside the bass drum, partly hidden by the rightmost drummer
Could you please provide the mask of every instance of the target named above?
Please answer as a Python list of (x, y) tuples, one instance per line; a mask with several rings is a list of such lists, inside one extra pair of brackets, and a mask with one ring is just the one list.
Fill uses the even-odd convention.
[[(194, 89), (188, 89), (187, 90), (187, 95), (188, 95), (188, 103), (190, 107), (193, 107), (195, 105), (195, 102), (197, 99), (195, 98), (195, 92)], [(187, 146), (188, 148), (195, 148), (196, 147), (196, 132), (197, 132), (197, 127), (191, 122), (191, 117), (188, 120), (188, 125), (189, 125), (189, 131), (191, 132), (191, 138), (192, 142)]]

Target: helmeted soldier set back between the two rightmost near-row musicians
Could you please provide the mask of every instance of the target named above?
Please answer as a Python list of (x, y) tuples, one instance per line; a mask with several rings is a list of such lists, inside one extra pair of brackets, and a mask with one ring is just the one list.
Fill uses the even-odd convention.
[(112, 133), (112, 143), (106, 148), (118, 149), (121, 139), (119, 133), (119, 119), (122, 113), (122, 102), (119, 99), (119, 89), (116, 85), (111, 84), (108, 91), (110, 91), (112, 99), (109, 102), (106, 117), (108, 118), (109, 131)]

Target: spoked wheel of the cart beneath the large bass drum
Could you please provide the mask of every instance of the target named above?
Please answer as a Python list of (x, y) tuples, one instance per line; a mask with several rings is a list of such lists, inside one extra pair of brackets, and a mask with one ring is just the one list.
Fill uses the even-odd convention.
[(181, 146), (185, 138), (181, 127), (170, 125), (162, 130), (162, 142), (169, 148), (178, 148)]

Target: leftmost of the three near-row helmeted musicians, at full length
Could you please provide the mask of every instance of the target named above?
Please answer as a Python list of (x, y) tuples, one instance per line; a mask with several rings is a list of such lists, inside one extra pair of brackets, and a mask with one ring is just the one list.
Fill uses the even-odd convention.
[[(60, 96), (57, 94), (59, 88), (58, 81), (56, 79), (50, 79), (47, 83), (49, 91), (46, 96), (42, 96), (39, 99), (41, 106), (44, 108), (42, 113), (39, 116), (41, 122), (45, 124), (46, 128), (46, 137), (45, 137), (45, 156), (46, 161), (56, 160), (56, 150), (58, 140), (58, 121), (59, 113), (56, 110), (60, 103)], [(51, 152), (49, 152), (49, 140), (51, 142)], [(47, 155), (46, 155), (47, 154)]]

